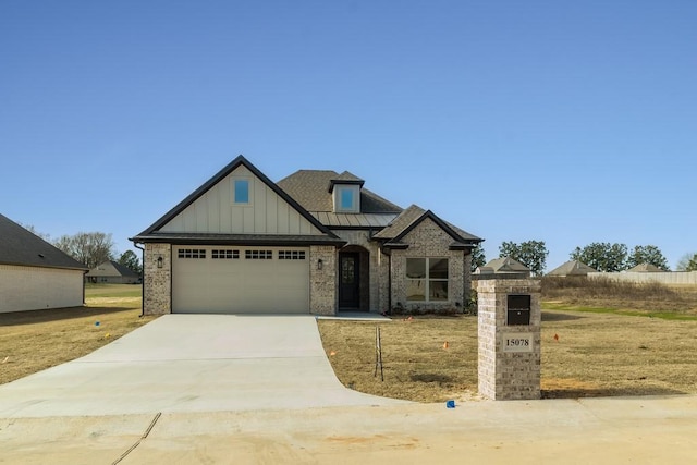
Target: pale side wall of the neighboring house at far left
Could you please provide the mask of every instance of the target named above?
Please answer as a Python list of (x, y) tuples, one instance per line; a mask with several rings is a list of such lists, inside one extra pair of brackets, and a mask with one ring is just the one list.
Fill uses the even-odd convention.
[(0, 265), (0, 313), (78, 307), (84, 272)]

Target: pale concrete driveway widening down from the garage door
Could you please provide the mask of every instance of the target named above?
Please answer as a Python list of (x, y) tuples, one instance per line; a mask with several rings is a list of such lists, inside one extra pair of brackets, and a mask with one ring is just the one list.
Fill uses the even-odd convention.
[(0, 418), (399, 403), (337, 380), (313, 316), (166, 315), (0, 386)]

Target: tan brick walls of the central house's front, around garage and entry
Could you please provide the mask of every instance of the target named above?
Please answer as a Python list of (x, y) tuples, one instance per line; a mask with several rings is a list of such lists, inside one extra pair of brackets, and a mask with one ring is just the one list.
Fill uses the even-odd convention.
[[(341, 249), (333, 246), (311, 246), (309, 249), (309, 304), (315, 315), (334, 315), (339, 301), (339, 253), (357, 252), (360, 256), (360, 310), (386, 313), (399, 303), (417, 311), (462, 311), (468, 298), (470, 256), (450, 250), (450, 237), (431, 220), (425, 220), (409, 232), (406, 250), (381, 252), (379, 243), (370, 241), (368, 231), (340, 230), (337, 235), (347, 242)], [(169, 314), (172, 309), (172, 247), (170, 244), (145, 244), (144, 296), (145, 315)], [(162, 268), (158, 268), (162, 257)], [(444, 257), (449, 259), (449, 298), (445, 302), (406, 301), (406, 258)], [(322, 261), (322, 269), (317, 264)], [(464, 280), (463, 280), (464, 277)], [(392, 279), (392, 284), (390, 284)]]

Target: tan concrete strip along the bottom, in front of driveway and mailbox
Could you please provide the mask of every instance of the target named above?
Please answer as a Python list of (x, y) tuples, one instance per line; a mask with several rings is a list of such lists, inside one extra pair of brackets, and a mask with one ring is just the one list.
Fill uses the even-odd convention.
[[(0, 463), (668, 464), (697, 457), (697, 396), (0, 420)], [(143, 439), (146, 430), (149, 433)]]

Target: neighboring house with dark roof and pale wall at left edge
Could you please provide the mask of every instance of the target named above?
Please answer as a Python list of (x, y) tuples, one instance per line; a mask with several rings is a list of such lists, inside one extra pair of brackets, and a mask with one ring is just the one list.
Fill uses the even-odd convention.
[(82, 306), (87, 267), (0, 215), (0, 313)]

